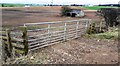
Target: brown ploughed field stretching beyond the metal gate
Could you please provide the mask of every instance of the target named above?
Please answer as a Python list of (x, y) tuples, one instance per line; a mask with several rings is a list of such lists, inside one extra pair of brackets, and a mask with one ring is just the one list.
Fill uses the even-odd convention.
[[(77, 7), (84, 10), (86, 16), (84, 18), (93, 19), (99, 21), (96, 17), (96, 11), (89, 11), (84, 8)], [(77, 20), (83, 18), (75, 17), (61, 17), (61, 6), (41, 6), (41, 7), (4, 7), (2, 9), (2, 23), (3, 25), (18, 26), (24, 23), (33, 22), (51, 22), (51, 21), (65, 21), (65, 20)]]

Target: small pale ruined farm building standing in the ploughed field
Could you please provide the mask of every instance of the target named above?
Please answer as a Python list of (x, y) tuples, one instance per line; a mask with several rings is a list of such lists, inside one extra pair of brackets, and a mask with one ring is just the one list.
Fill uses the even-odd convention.
[(84, 17), (85, 14), (82, 10), (80, 9), (71, 9), (70, 12), (66, 13), (67, 16), (71, 16), (71, 17)]

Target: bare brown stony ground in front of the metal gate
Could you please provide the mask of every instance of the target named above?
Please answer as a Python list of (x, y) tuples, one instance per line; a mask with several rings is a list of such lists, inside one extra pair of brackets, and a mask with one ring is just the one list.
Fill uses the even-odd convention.
[(116, 64), (117, 41), (79, 38), (30, 52), (12, 63)]

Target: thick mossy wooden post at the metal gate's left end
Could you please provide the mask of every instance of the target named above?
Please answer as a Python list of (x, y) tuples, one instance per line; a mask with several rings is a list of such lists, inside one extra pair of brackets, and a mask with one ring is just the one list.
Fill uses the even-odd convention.
[(24, 45), (24, 54), (27, 55), (28, 53), (28, 36), (27, 36), (27, 27), (21, 27), (21, 30), (23, 32), (22, 38), (23, 38), (23, 45)]

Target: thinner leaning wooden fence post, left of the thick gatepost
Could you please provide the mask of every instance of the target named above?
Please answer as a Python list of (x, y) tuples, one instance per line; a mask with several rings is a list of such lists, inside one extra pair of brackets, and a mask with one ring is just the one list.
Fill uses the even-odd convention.
[(11, 44), (11, 37), (10, 37), (10, 30), (6, 29), (6, 36), (7, 36), (7, 43), (8, 43), (8, 52), (10, 53), (10, 57), (12, 55), (12, 44)]

